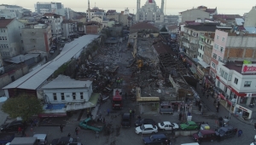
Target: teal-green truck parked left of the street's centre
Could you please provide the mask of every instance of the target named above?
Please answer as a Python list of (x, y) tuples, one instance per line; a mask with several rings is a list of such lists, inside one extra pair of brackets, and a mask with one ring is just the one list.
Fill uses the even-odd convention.
[(79, 123), (79, 126), (83, 129), (89, 129), (92, 131), (102, 131), (105, 127), (105, 124), (102, 122), (96, 122), (95, 120), (92, 120), (91, 118), (84, 119)]

